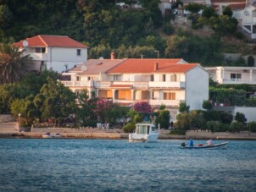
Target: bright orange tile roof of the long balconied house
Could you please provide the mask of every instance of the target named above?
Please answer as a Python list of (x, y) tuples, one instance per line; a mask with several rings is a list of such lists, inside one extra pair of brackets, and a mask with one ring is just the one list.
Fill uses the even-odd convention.
[[(158, 69), (154, 71), (155, 63), (158, 62)], [(187, 70), (198, 66), (185, 63), (181, 58), (175, 59), (136, 59), (127, 58), (108, 74), (152, 74), (152, 73), (185, 73)]]

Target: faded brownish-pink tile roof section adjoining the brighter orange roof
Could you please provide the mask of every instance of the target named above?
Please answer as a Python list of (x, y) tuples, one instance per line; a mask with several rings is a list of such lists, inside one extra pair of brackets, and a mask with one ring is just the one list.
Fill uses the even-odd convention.
[[(70, 72), (76, 72), (80, 74), (103, 74), (124, 60), (125, 59), (90, 59), (85, 63), (77, 66), (75, 69), (71, 69)], [(82, 66), (86, 66), (85, 71), (82, 71)]]

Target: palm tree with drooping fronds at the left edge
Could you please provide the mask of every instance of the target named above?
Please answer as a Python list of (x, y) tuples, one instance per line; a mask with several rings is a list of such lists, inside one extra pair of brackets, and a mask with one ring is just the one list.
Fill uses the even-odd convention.
[(18, 47), (0, 43), (0, 85), (14, 83), (29, 73), (33, 62), (30, 55), (22, 56)]

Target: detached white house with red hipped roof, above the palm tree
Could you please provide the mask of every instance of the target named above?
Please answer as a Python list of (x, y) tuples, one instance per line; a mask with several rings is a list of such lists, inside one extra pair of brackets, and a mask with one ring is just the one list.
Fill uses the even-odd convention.
[(33, 36), (14, 43), (14, 46), (33, 58), (34, 70), (49, 69), (61, 73), (87, 60), (88, 47), (69, 36)]

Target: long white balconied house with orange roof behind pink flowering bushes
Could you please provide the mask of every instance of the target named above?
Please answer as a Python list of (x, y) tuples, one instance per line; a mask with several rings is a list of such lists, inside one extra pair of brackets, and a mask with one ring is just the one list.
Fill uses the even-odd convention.
[(202, 109), (203, 100), (209, 99), (208, 72), (181, 58), (90, 59), (63, 76), (70, 78), (61, 82), (77, 94), (94, 91), (121, 106), (147, 101), (158, 110), (165, 105), (173, 121), (181, 102)]

